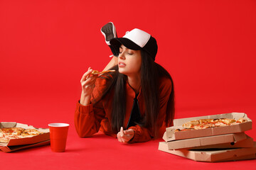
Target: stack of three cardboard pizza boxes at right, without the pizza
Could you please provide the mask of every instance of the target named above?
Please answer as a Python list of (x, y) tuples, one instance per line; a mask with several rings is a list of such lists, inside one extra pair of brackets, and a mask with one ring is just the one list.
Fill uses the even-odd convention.
[[(191, 120), (228, 118), (245, 123), (183, 130), (183, 124)], [(179, 130), (177, 130), (179, 129)], [(159, 150), (193, 159), (198, 162), (225, 162), (256, 158), (256, 142), (245, 131), (252, 129), (252, 120), (245, 113), (225, 113), (193, 118), (175, 119), (174, 126), (166, 128)]]

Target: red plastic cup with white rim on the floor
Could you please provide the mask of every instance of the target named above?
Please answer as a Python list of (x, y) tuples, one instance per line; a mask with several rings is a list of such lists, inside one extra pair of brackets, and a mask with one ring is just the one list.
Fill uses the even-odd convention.
[(53, 152), (65, 152), (68, 137), (67, 123), (50, 123), (50, 148)]

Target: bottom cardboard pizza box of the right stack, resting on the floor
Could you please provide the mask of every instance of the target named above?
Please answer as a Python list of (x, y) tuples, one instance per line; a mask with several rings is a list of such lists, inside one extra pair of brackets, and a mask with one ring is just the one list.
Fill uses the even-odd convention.
[(197, 162), (227, 162), (256, 158), (256, 142), (253, 147), (230, 149), (168, 149), (167, 142), (159, 142), (159, 150)]

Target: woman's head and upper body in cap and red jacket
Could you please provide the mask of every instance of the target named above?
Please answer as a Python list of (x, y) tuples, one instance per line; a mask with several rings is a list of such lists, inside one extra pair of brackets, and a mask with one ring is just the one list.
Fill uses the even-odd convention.
[(82, 76), (75, 110), (80, 137), (99, 130), (119, 142), (146, 142), (162, 137), (174, 118), (174, 84), (166, 69), (154, 62), (156, 40), (135, 28), (110, 45), (119, 52), (115, 72)]

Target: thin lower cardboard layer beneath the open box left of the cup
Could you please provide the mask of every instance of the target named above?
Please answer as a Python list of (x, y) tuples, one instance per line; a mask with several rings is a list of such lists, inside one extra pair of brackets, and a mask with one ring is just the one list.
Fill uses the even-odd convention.
[(1, 151), (8, 153), (8, 152), (14, 152), (16, 150), (26, 149), (29, 147), (39, 147), (39, 146), (49, 145), (49, 144), (50, 144), (50, 140), (46, 140), (46, 141), (29, 144), (29, 145), (16, 145), (16, 146), (5, 146), (5, 147), (0, 146), (0, 149)]

